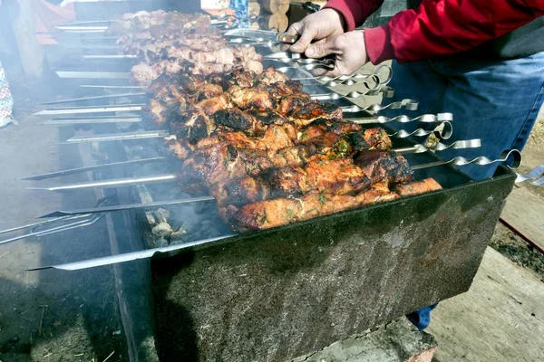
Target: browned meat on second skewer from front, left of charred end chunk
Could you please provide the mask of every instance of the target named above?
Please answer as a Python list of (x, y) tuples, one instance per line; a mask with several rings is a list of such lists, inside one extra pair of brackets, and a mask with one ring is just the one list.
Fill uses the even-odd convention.
[[(258, 176), (246, 176), (221, 188), (219, 205), (245, 205), (269, 198), (298, 196), (312, 190), (331, 195), (359, 192), (370, 186), (370, 180), (349, 157), (316, 159), (306, 167), (270, 168)], [(213, 191), (213, 190), (212, 190)]]

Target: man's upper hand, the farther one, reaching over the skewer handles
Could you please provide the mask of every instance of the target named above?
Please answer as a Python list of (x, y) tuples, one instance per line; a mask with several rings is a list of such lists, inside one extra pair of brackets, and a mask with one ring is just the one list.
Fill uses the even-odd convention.
[(291, 52), (305, 52), (313, 41), (320, 41), (344, 33), (344, 16), (333, 9), (323, 9), (307, 15), (287, 29), (287, 35), (300, 35), (289, 47)]

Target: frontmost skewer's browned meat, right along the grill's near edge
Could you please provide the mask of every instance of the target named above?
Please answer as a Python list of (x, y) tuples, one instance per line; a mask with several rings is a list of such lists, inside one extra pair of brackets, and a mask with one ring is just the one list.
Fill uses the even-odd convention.
[(335, 214), (363, 205), (391, 201), (400, 197), (384, 187), (371, 187), (357, 195), (310, 193), (297, 198), (276, 198), (258, 201), (220, 214), (226, 224), (241, 232), (270, 229), (285, 224)]

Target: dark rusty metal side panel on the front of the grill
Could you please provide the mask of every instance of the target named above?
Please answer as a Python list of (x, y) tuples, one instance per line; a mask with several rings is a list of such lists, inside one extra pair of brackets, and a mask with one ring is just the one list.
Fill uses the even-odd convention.
[(281, 361), (468, 291), (513, 176), (154, 259), (162, 360)]

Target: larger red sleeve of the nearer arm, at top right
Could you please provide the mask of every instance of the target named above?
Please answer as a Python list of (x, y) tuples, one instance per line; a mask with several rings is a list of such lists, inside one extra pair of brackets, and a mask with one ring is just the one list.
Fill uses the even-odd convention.
[(374, 64), (421, 61), (469, 50), (543, 14), (542, 0), (423, 0), (389, 24), (365, 29), (364, 43)]

